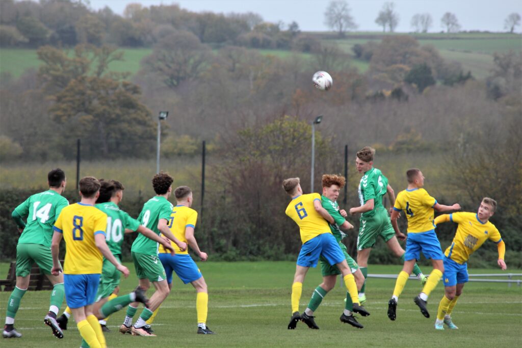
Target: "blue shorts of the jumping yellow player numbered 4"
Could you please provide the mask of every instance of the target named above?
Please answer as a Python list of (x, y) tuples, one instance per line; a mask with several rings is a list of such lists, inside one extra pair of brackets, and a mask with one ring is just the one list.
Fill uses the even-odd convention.
[(442, 260), (444, 258), (441, 249), (441, 242), (438, 241), (435, 230), (408, 233), (404, 259), (406, 261), (419, 260), (421, 257), (421, 251), (427, 259)]

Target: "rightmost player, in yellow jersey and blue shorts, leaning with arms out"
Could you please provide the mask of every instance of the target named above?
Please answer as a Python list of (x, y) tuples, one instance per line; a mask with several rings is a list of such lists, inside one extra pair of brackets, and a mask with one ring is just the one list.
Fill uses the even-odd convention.
[(502, 241), (499, 230), (489, 222), (495, 210), (496, 201), (485, 197), (482, 199), (477, 213), (458, 212), (440, 215), (435, 219), (435, 225), (447, 221), (458, 223), (453, 242), (444, 252), (444, 296), (438, 305), (435, 321), (437, 330), (444, 330), (443, 324), (450, 329), (458, 329), (452, 321), (451, 314), (458, 297), (462, 294), (464, 284), (468, 281), (467, 261), (487, 239), (496, 243), (499, 250), (497, 265), (502, 270), (507, 269), (506, 262), (504, 262), (506, 245)]

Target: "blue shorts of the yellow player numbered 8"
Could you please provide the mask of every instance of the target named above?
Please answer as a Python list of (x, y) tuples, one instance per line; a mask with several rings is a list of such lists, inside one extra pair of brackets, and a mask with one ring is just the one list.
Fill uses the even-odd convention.
[(69, 308), (80, 308), (94, 303), (100, 274), (64, 274), (65, 301)]

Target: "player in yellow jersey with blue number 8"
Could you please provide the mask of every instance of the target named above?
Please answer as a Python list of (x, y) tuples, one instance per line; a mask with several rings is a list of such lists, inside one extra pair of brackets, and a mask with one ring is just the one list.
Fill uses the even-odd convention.
[(98, 318), (93, 315), (103, 257), (125, 277), (128, 269), (120, 265), (105, 243), (107, 215), (94, 207), (100, 194), (100, 182), (91, 176), (79, 182), (81, 200), (62, 209), (54, 224), (51, 242), (52, 274), (62, 272), (58, 252), (62, 237), (66, 243), (64, 262), (65, 298), (73, 312), (81, 337), (91, 348), (106, 347)]

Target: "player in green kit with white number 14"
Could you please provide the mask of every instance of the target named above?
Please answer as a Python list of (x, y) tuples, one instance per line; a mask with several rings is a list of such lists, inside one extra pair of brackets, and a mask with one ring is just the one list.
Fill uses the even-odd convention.
[[(51, 292), (51, 305), (44, 322), (53, 330), (57, 338), (63, 338), (62, 330), (56, 322), (56, 315), (64, 299), (64, 277), (51, 274), (53, 258), (51, 255), (51, 240), (53, 237), (53, 225), (62, 209), (69, 205), (67, 199), (62, 197), (65, 189), (65, 173), (60, 169), (53, 169), (47, 175), (49, 190), (43, 191), (27, 198), (13, 210), (11, 214), (18, 230), (21, 233), (16, 247), (16, 286), (7, 302), (7, 315), (3, 331), (4, 338), (19, 338), (19, 333), (14, 328), (15, 316), (22, 296), (29, 286), (29, 277), (33, 263), (37, 263), (42, 272), (53, 284)], [(23, 218), (27, 217), (27, 224)]]

